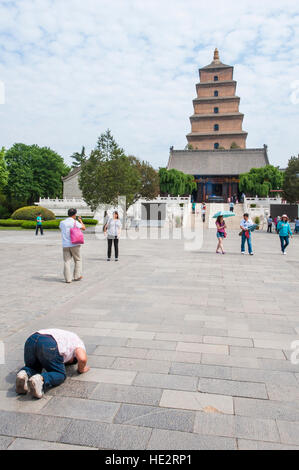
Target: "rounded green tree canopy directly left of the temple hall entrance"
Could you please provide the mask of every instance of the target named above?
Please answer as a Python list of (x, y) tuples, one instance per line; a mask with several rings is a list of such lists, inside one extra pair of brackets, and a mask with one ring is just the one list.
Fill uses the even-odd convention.
[(159, 177), (161, 193), (171, 196), (189, 195), (197, 187), (192, 175), (186, 175), (175, 169), (160, 168)]

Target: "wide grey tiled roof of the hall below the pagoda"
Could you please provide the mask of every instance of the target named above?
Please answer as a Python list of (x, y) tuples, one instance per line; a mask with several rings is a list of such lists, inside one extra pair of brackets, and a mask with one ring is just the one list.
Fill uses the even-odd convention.
[(188, 175), (228, 176), (240, 175), (269, 164), (267, 146), (261, 149), (233, 150), (173, 150), (167, 169)]

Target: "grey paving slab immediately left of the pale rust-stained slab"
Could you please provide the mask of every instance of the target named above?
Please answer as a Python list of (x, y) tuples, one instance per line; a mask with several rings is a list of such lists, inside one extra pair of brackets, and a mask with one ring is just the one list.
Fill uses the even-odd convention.
[(99, 384), (91, 394), (92, 399), (113, 402), (158, 405), (162, 390), (158, 388), (134, 387), (133, 385)]

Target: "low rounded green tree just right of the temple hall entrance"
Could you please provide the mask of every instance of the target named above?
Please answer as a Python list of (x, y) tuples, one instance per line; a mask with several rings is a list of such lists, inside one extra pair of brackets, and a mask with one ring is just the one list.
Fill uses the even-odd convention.
[(281, 189), (282, 184), (282, 172), (273, 165), (266, 165), (240, 175), (239, 189), (248, 196), (267, 197), (272, 189)]

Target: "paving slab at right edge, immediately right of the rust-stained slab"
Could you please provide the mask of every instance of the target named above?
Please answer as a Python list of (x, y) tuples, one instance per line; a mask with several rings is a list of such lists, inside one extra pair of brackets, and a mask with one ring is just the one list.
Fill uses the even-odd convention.
[(234, 398), (235, 414), (255, 418), (299, 421), (299, 403)]

